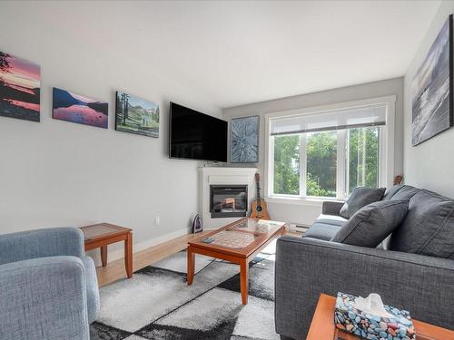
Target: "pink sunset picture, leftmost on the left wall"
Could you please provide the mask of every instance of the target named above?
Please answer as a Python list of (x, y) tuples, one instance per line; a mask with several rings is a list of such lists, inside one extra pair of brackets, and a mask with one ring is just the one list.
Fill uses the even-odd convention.
[(39, 65), (0, 52), (0, 116), (39, 121), (40, 79)]

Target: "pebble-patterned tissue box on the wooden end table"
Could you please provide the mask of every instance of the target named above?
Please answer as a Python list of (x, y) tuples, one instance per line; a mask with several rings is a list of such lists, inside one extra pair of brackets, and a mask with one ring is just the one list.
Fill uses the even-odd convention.
[(334, 308), (336, 327), (370, 340), (416, 339), (409, 312), (383, 305), (391, 317), (373, 316), (354, 306), (356, 297), (338, 293)]

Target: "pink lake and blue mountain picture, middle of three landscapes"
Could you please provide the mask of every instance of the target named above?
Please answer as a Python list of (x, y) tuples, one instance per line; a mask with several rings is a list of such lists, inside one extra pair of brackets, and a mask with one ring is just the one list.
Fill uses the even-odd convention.
[(54, 87), (52, 107), (52, 117), (56, 120), (107, 129), (109, 114), (107, 102)]

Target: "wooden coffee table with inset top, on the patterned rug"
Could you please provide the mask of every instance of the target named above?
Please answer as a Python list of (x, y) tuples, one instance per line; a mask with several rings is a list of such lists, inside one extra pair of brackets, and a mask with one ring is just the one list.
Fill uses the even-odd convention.
[(242, 304), (248, 303), (249, 262), (285, 231), (283, 222), (239, 219), (188, 243), (188, 286), (194, 278), (195, 254), (240, 265)]

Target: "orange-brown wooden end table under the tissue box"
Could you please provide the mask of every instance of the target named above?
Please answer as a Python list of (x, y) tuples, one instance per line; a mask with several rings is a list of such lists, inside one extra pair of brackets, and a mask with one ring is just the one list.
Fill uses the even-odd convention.
[[(336, 298), (321, 294), (319, 303), (312, 318), (306, 340), (359, 340), (360, 337), (346, 333), (334, 325), (334, 306)], [(418, 340), (448, 340), (454, 339), (454, 332), (437, 325), (429, 325), (418, 320), (412, 320)]]

